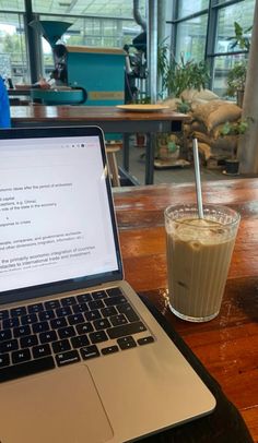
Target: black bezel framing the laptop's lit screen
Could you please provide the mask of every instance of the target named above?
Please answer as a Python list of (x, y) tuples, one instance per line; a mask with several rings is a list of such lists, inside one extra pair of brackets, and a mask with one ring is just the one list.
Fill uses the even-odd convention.
[(40, 127), (40, 128), (19, 128), (0, 130), (1, 140), (24, 140), (24, 139), (55, 139), (55, 137), (77, 137), (77, 136), (97, 136), (101, 143), (103, 168), (107, 170), (105, 183), (107, 190), (108, 204), (110, 208), (110, 219), (115, 240), (115, 250), (118, 268), (112, 272), (105, 272), (92, 276), (70, 278), (61, 282), (51, 282), (21, 289), (0, 291), (0, 306), (19, 300), (38, 298), (60, 292), (73, 291), (83, 288), (90, 288), (95, 285), (106, 284), (108, 282), (121, 280), (124, 278), (121, 252), (119, 248), (118, 229), (112, 194), (110, 178), (107, 168), (107, 157), (104, 142), (104, 134), (101, 128), (94, 125), (83, 127)]

